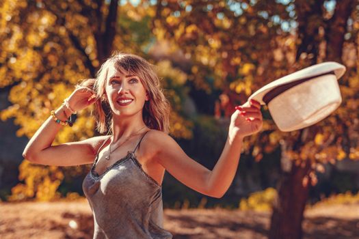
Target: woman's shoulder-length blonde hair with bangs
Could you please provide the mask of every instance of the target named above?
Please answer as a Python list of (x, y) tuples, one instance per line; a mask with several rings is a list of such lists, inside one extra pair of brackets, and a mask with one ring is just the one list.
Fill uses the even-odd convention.
[(113, 117), (109, 102), (105, 96), (107, 73), (114, 66), (116, 70), (126, 70), (138, 76), (148, 94), (148, 100), (142, 109), (144, 124), (148, 128), (168, 133), (170, 128), (170, 103), (163, 94), (159, 77), (154, 66), (142, 57), (126, 53), (114, 53), (98, 70), (96, 79), (87, 79), (80, 86), (90, 87), (96, 92), (96, 130), (100, 133), (113, 132)]

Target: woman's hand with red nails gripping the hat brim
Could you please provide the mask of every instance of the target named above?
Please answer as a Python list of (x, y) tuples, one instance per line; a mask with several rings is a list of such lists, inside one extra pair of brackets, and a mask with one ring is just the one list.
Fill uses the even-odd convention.
[(235, 107), (230, 117), (229, 134), (231, 137), (243, 137), (259, 132), (263, 126), (261, 104), (256, 100)]

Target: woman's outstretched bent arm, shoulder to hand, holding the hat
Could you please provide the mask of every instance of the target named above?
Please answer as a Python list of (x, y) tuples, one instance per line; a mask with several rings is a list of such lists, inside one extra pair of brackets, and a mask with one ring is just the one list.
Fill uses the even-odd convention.
[(224, 150), (212, 171), (189, 158), (168, 135), (153, 137), (161, 147), (155, 159), (174, 178), (204, 195), (220, 198), (226, 193), (237, 171), (242, 141), (262, 128), (261, 105), (247, 102), (232, 114)]

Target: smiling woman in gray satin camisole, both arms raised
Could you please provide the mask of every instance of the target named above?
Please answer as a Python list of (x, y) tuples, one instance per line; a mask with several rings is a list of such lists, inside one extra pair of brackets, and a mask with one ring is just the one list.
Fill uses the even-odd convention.
[[(109, 135), (51, 146), (63, 125), (71, 124), (71, 113), (94, 102), (97, 129)], [(222, 197), (237, 171), (243, 137), (261, 130), (260, 108), (258, 102), (236, 107), (226, 145), (211, 171), (168, 135), (169, 104), (152, 66), (136, 55), (119, 53), (101, 66), (96, 80), (83, 82), (51, 112), (23, 156), (42, 165), (93, 164), (83, 192), (94, 214), (94, 238), (172, 238), (163, 229), (165, 170), (204, 195)], [(109, 127), (106, 119), (111, 120)]]

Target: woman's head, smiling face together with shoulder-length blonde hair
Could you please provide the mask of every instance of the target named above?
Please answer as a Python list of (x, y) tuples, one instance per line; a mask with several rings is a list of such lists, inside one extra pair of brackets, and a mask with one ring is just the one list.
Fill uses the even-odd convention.
[[(142, 110), (144, 123), (149, 128), (168, 132), (170, 104), (162, 93), (160, 81), (153, 67), (136, 55), (115, 54), (101, 66), (97, 81), (94, 84), (98, 115), (98, 131), (112, 130), (111, 122), (106, 125), (102, 103), (108, 103), (111, 110), (109, 115), (135, 113)], [(133, 100), (131, 109), (125, 102), (119, 100)], [(124, 104), (124, 105), (121, 105)], [(137, 111), (136, 111), (137, 110)], [(114, 120), (113, 117), (110, 116)], [(111, 132), (111, 131), (110, 131)]]

